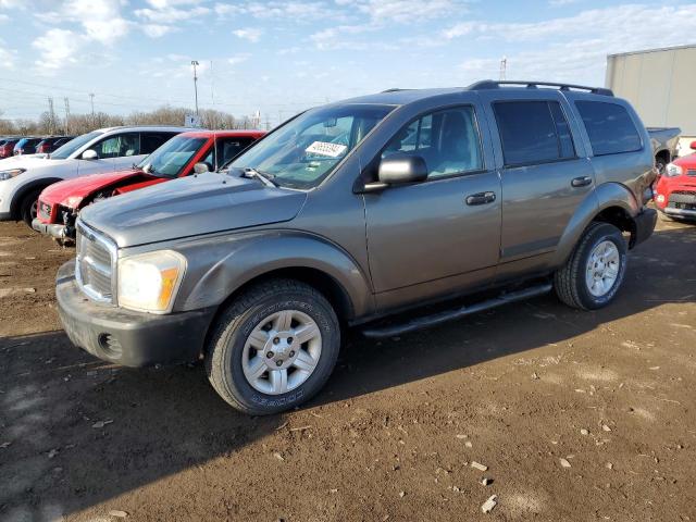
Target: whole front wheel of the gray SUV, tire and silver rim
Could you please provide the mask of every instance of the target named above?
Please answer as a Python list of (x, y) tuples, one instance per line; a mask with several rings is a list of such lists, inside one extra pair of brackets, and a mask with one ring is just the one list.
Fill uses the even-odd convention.
[(297, 281), (273, 279), (245, 291), (221, 314), (206, 370), (236, 409), (277, 413), (322, 388), (339, 347), (338, 320), (324, 296)]

